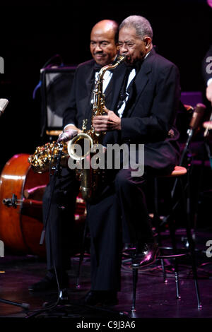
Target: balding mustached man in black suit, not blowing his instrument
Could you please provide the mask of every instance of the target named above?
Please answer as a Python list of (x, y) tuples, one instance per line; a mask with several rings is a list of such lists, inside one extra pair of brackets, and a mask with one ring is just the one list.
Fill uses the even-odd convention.
[[(76, 132), (81, 132), (83, 119), (88, 118), (89, 128), (95, 76), (102, 66), (114, 61), (117, 55), (117, 34), (118, 24), (114, 20), (101, 20), (94, 25), (90, 34), (90, 52), (93, 59), (80, 64), (76, 69), (70, 91), (69, 107), (64, 112), (63, 138), (67, 135), (71, 139)], [(111, 78), (112, 73), (108, 73), (103, 86), (108, 107), (110, 107)], [(75, 171), (67, 167), (61, 170), (53, 192), (52, 183), (50, 181), (43, 197), (44, 223), (47, 220), (45, 231), (47, 275), (28, 287), (33, 292), (57, 289), (54, 267), (57, 271), (60, 288), (66, 289), (69, 286), (67, 274), (70, 268), (69, 246), (79, 182), (76, 180)], [(49, 209), (50, 201), (51, 208)]]

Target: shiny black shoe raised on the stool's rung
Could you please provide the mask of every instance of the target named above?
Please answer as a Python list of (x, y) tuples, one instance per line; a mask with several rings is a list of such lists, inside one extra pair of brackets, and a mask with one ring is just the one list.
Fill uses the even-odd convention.
[(131, 266), (132, 267), (143, 267), (148, 266), (155, 262), (155, 259), (159, 253), (158, 244), (145, 243), (139, 250), (133, 255)]

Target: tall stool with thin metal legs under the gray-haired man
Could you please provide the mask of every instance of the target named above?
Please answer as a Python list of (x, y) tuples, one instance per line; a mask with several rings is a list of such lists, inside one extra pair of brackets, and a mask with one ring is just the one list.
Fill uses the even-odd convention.
[[(188, 193), (187, 201), (186, 201), (186, 195), (185, 195), (185, 187), (183, 186), (183, 182), (182, 182), (182, 179), (184, 179), (184, 177), (186, 175), (187, 175), (186, 189), (187, 189), (187, 193)], [(171, 174), (160, 176), (160, 178), (175, 179), (175, 185), (174, 185), (172, 191), (170, 191), (170, 200), (172, 203), (171, 208), (170, 208), (170, 213), (168, 215), (166, 215), (165, 218), (163, 218), (163, 221), (161, 222), (159, 212), (158, 212), (158, 179), (159, 179), (159, 177), (154, 178), (154, 210), (155, 210), (154, 221), (156, 224), (158, 245), (159, 245), (161, 252), (163, 252), (164, 249), (172, 250), (172, 254), (168, 254), (168, 255), (160, 254), (157, 258), (157, 259), (160, 259), (160, 261), (161, 261), (161, 266), (163, 269), (163, 280), (164, 280), (164, 282), (166, 282), (164, 259), (174, 259), (176, 292), (177, 292), (177, 298), (179, 299), (180, 295), (179, 295), (179, 276), (178, 276), (177, 259), (179, 259), (182, 256), (189, 255), (191, 258), (192, 272), (193, 272), (193, 276), (194, 276), (194, 285), (195, 285), (195, 289), (196, 289), (197, 304), (198, 304), (198, 308), (201, 308), (199, 285), (198, 285), (197, 273), (196, 273), (196, 261), (195, 261), (195, 254), (194, 254), (194, 241), (192, 239), (192, 232), (191, 232), (191, 225), (190, 225), (189, 170), (187, 170), (187, 168), (182, 167), (182, 166), (176, 166)], [(189, 244), (188, 248), (183, 248), (180, 250), (180, 252), (179, 252), (179, 249), (177, 249), (175, 226), (174, 226), (173, 219), (172, 219), (172, 215), (175, 211), (175, 208), (179, 203), (179, 201), (175, 201), (175, 196), (176, 196), (175, 192), (176, 192), (177, 184), (180, 185), (179, 189), (181, 189), (181, 197), (178, 197), (178, 198), (179, 198), (179, 201), (182, 201), (182, 208), (184, 210), (185, 227), (186, 227), (186, 231), (187, 231), (187, 240), (188, 240), (188, 244)], [(164, 223), (167, 223), (167, 225), (169, 227), (172, 248), (161, 247), (160, 226), (163, 225)], [(131, 312), (135, 312), (136, 311), (136, 286), (137, 286), (139, 268), (133, 267), (133, 266), (131, 266), (131, 268), (132, 268), (132, 274), (133, 274), (133, 292), (132, 292)]]

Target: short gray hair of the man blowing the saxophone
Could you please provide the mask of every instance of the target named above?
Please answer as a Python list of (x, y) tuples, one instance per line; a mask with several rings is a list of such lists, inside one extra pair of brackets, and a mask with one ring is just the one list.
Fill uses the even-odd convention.
[(151, 37), (153, 39), (153, 29), (149, 21), (143, 16), (131, 15), (119, 25), (119, 31), (124, 28), (135, 28), (136, 35), (143, 40), (145, 36)]

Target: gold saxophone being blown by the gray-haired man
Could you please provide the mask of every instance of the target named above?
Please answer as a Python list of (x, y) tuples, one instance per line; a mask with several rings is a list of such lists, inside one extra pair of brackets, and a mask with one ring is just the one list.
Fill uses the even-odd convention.
[[(122, 63), (122, 61), (124, 61), (124, 59), (125, 56), (120, 55), (117, 57), (117, 60), (114, 64), (108, 64), (100, 69), (97, 81), (95, 82), (95, 88), (93, 90), (94, 102), (92, 119), (95, 116), (103, 115), (105, 112), (105, 95), (102, 92), (103, 76), (105, 75), (105, 72), (115, 69), (117, 66), (119, 66), (119, 64)], [(94, 145), (101, 146), (102, 138), (105, 133), (96, 132), (92, 124), (90, 129), (87, 130), (87, 122), (88, 119), (83, 120), (82, 132), (73, 137), (71, 141), (69, 141), (68, 153), (73, 160), (81, 162), (81, 168), (77, 170), (77, 174), (79, 180), (81, 181), (80, 190), (83, 199), (85, 199), (85, 201), (93, 201), (93, 198), (95, 198), (98, 193), (99, 184), (102, 177), (102, 170), (99, 168), (93, 169), (93, 167), (85, 167), (85, 164), (88, 165), (88, 162), (90, 162), (90, 158), (92, 156), (90, 149), (93, 148)], [(81, 148), (78, 149), (78, 146)]]

